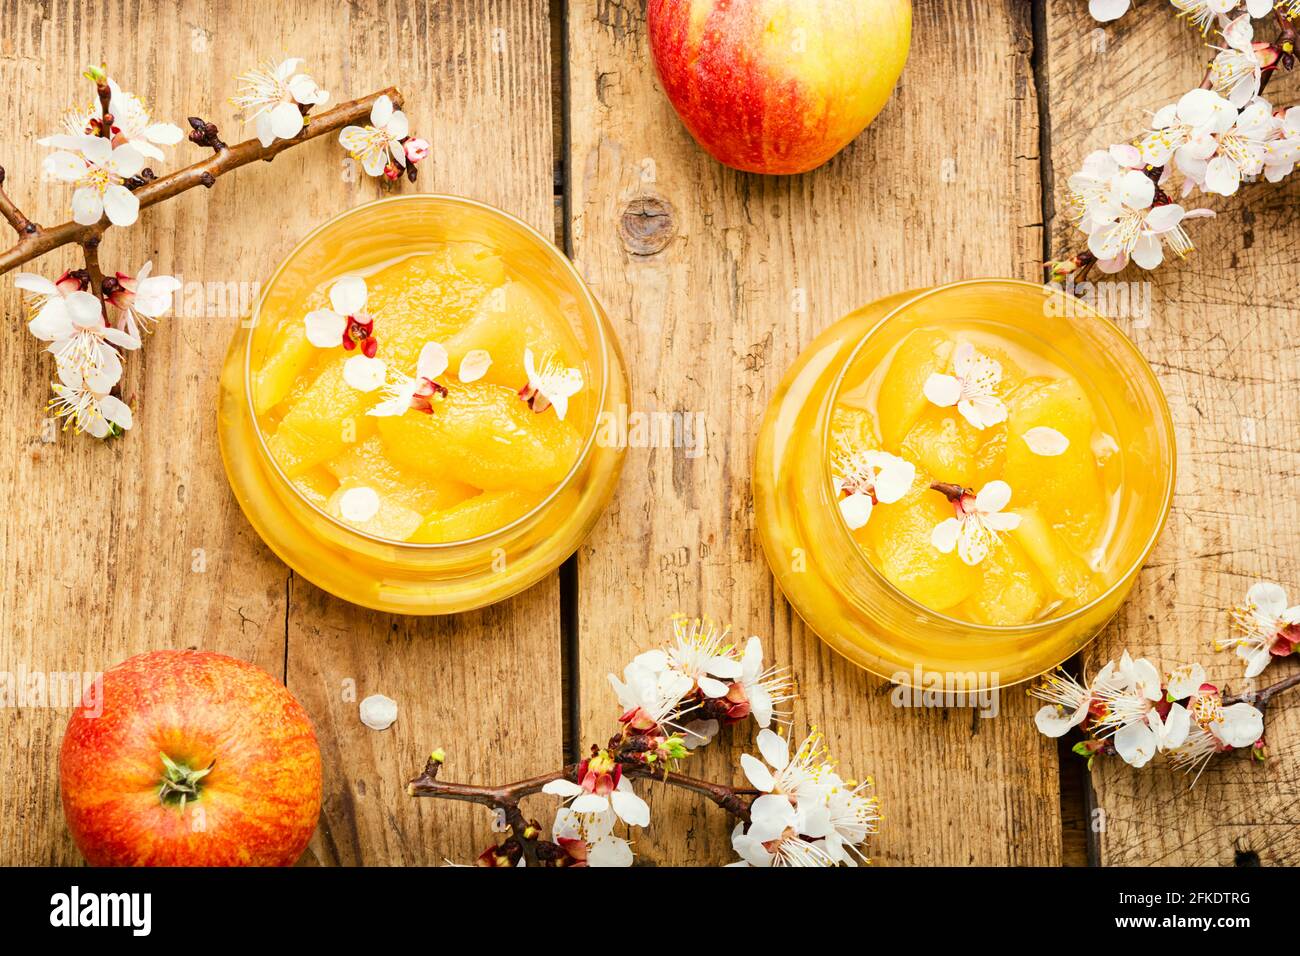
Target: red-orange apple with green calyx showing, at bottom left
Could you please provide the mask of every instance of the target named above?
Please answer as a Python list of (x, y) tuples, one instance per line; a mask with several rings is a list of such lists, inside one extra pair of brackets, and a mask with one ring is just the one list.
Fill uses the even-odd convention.
[(264, 670), (208, 652), (105, 671), (73, 713), (58, 773), (95, 866), (289, 866), (320, 816), (307, 711)]

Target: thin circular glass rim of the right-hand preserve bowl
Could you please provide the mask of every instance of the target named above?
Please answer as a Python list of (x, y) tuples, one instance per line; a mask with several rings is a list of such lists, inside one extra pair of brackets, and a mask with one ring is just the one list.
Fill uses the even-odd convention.
[[(1030, 282), (1022, 278), (998, 278), (994, 276), (967, 278), (957, 282), (945, 282), (942, 285), (931, 286), (930, 289), (918, 291), (915, 295), (909, 297), (907, 299), (905, 299), (904, 302), (898, 303), (896, 307), (889, 310), (884, 316), (880, 317), (880, 320), (875, 325), (867, 329), (867, 332), (863, 333), (863, 336), (858, 339), (857, 345), (854, 345), (853, 350), (849, 352), (849, 355), (841, 364), (840, 371), (836, 372), (835, 378), (831, 381), (831, 388), (827, 390), (827, 401), (829, 403), (828, 407), (833, 407), (835, 401), (844, 386), (845, 376), (853, 367), (858, 355), (862, 352), (862, 349), (871, 339), (871, 337), (879, 333), (884, 328), (884, 325), (889, 323), (892, 319), (902, 313), (905, 310), (911, 308), (922, 299), (927, 299), (932, 295), (948, 293), (954, 289), (966, 289), (971, 286), (997, 286), (997, 285), (1017, 286), (1024, 290), (1034, 290), (1039, 294), (1048, 294), (1048, 295), (1056, 294), (1061, 297), (1065, 295), (1063, 290), (1053, 289), (1048, 284)], [(1118, 589), (1126, 587), (1128, 579), (1145, 563), (1147, 558), (1150, 555), (1152, 549), (1154, 549), (1156, 542), (1160, 540), (1161, 532), (1165, 529), (1165, 524), (1169, 520), (1169, 512), (1174, 499), (1174, 485), (1178, 473), (1178, 444), (1174, 432), (1174, 419), (1169, 411), (1169, 401), (1165, 398), (1165, 390), (1161, 388), (1160, 381), (1156, 378), (1156, 373), (1152, 371), (1150, 363), (1147, 360), (1147, 356), (1141, 354), (1141, 351), (1138, 349), (1138, 345), (1124, 333), (1123, 329), (1121, 329), (1108, 316), (1105, 316), (1104, 313), (1101, 313), (1100, 311), (1097, 311), (1086, 302), (1072, 302), (1071, 310), (1075, 310), (1074, 317), (1078, 317), (1079, 315), (1087, 315), (1088, 319), (1097, 328), (1104, 329), (1109, 336), (1117, 339), (1121, 349), (1126, 349), (1132, 355), (1132, 358), (1138, 359), (1138, 364), (1143, 371), (1148, 390), (1156, 397), (1156, 405), (1160, 410), (1161, 433), (1164, 434), (1169, 447), (1169, 470), (1165, 475), (1165, 486), (1160, 493), (1160, 519), (1154, 522), (1154, 524), (1152, 525), (1150, 533), (1147, 536), (1147, 541), (1143, 544), (1141, 549), (1134, 557), (1134, 561), (1124, 567), (1122, 574), (1115, 576), (1110, 587), (1108, 587), (1101, 593), (1096, 594), (1087, 604), (1083, 604), (1075, 607), (1074, 610), (1069, 611), (1067, 614), (1062, 614), (1061, 617), (1057, 618), (1044, 618), (1041, 620), (1031, 620), (1023, 624), (983, 624), (974, 620), (965, 620), (962, 618), (954, 618), (949, 614), (944, 614), (942, 611), (937, 611), (933, 607), (923, 605), (910, 594), (904, 593), (900, 588), (897, 588), (893, 584), (893, 581), (890, 581), (888, 578), (884, 576), (880, 568), (878, 568), (875, 564), (872, 564), (870, 561), (866, 559), (866, 555), (862, 554), (862, 548), (853, 538), (853, 533), (849, 531), (849, 525), (845, 523), (842, 515), (838, 514), (838, 509), (833, 509), (836, 511), (835, 524), (838, 528), (841, 544), (852, 545), (852, 549), (857, 554), (857, 558), (861, 561), (861, 563), (864, 564), (867, 568), (870, 568), (870, 574), (872, 574), (893, 597), (905, 604), (909, 607), (909, 610), (913, 610), (916, 614), (924, 615), (927, 618), (932, 618), (935, 623), (952, 624), (954, 627), (967, 628), (976, 633), (988, 633), (998, 636), (1015, 635), (1015, 633), (1028, 635), (1041, 631), (1041, 628), (1045, 626), (1056, 627), (1060, 624), (1067, 624), (1075, 620), (1076, 618), (1084, 617), (1086, 614), (1096, 609), (1098, 605), (1105, 602), (1108, 598), (1110, 598)], [(822, 450), (820, 450), (823, 488), (829, 488), (831, 483), (833, 481), (833, 475), (831, 472), (831, 457), (828, 454), (829, 442), (831, 442), (831, 429), (828, 428), (824, 429), (823, 432)]]

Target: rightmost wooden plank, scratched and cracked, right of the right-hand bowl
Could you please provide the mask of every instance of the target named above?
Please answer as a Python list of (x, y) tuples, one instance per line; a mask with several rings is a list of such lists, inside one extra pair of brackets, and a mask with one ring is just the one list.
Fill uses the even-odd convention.
[[(1260, 36), (1271, 26), (1257, 22)], [(1048, 0), (1048, 103), (1052, 168), (1060, 200), (1083, 156), (1141, 131), (1147, 117), (1196, 86), (1205, 68), (1200, 36), (1170, 10), (1139, 9), (1100, 27), (1086, 5)], [(1269, 99), (1291, 104), (1296, 85), (1280, 77)], [(1217, 654), (1226, 609), (1256, 580), (1300, 589), (1295, 532), (1300, 502), (1280, 488), (1300, 472), (1300, 408), (1294, 401), (1300, 183), (1261, 182), (1236, 196), (1196, 206), (1218, 211), (1191, 224), (1199, 246), (1184, 263), (1117, 278), (1150, 281), (1150, 323), (1128, 330), (1156, 368), (1178, 429), (1174, 512), (1134, 596), (1089, 654), (1091, 667), (1128, 648), (1166, 665), (1201, 661), (1210, 680), (1243, 689), (1242, 665)], [(1057, 252), (1078, 247), (1060, 216)], [(1294, 672), (1273, 665), (1266, 685)], [(1269, 708), (1273, 758), (1216, 758), (1193, 790), (1169, 769), (1134, 770), (1100, 761), (1092, 774), (1105, 830), (1096, 835), (1108, 865), (1232, 865), (1253, 855), (1265, 865), (1300, 862), (1300, 702)]]

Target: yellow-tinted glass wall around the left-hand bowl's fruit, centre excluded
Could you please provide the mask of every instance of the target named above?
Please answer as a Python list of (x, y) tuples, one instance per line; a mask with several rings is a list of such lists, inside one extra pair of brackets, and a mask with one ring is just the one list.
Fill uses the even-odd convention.
[[(568, 475), (528, 514), (463, 541), (412, 544), (359, 531), (299, 492), (266, 447), (254, 414), (254, 356), (274, 321), (311, 290), (434, 243), (472, 241), (569, 319), (588, 359), (590, 429)], [(261, 351), (259, 351), (261, 350)], [(450, 614), (515, 594), (554, 571), (592, 531), (618, 484), (624, 449), (597, 441), (599, 423), (627, 405), (627, 375), (608, 319), (573, 264), (537, 230), (484, 203), (408, 195), (350, 209), (312, 230), (261, 289), (230, 342), (217, 431), (230, 486), (248, 522), (294, 571), (352, 604), (400, 614)]]

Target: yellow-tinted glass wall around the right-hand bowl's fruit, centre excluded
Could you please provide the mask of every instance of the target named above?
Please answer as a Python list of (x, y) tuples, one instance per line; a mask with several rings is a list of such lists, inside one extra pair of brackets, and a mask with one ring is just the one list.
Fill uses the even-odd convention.
[[(931, 610), (867, 561), (837, 507), (828, 442), (849, 371), (861, 377), (913, 329), (959, 328), (963, 321), (1028, 333), (1086, 369), (1100, 384), (1114, 423), (1123, 475), (1112, 537), (1114, 571), (1100, 594), (1060, 617), (991, 626)], [(800, 355), (763, 419), (754, 509), (781, 591), (835, 650), (900, 684), (991, 689), (1067, 659), (1115, 614), (1169, 515), (1174, 468), (1165, 395), (1123, 332), (1049, 286), (972, 280), (879, 299), (837, 321)]]

